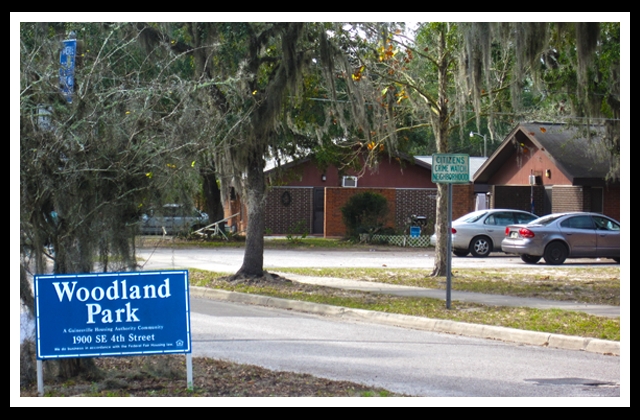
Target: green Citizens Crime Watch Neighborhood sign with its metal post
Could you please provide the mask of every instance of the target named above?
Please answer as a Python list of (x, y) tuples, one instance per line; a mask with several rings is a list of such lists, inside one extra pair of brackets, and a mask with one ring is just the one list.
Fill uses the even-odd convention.
[(447, 226), (447, 309), (451, 309), (451, 252), (452, 237), (451, 223), (453, 219), (453, 185), (469, 183), (469, 155), (465, 154), (436, 154), (431, 164), (431, 181), (435, 184), (449, 184)]

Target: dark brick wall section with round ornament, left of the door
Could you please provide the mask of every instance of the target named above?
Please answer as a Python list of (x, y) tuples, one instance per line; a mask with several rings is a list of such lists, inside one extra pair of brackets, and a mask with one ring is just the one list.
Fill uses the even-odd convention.
[(313, 188), (274, 187), (267, 194), (265, 228), (274, 234), (311, 233)]

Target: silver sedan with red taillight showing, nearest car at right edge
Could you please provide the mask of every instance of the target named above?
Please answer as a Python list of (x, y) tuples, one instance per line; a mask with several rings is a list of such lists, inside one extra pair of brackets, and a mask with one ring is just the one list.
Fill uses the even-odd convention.
[(502, 250), (535, 264), (567, 258), (611, 258), (620, 262), (620, 223), (600, 213), (556, 213), (505, 230)]

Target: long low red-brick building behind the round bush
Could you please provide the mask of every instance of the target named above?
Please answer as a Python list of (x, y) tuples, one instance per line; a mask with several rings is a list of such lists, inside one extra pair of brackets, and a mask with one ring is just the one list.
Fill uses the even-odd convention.
[[(435, 222), (437, 187), (431, 181), (431, 157), (380, 157), (375, 168), (361, 172), (321, 169), (311, 158), (266, 171), (269, 192), (266, 203), (266, 233), (343, 237), (346, 227), (342, 207), (353, 195), (369, 191), (387, 198), (388, 227), (407, 230), (412, 215)], [(231, 224), (240, 231), (246, 224), (241, 198), (229, 197), (226, 217), (240, 213)], [(454, 187), (454, 217), (475, 207), (473, 185)], [(430, 232), (425, 232), (430, 234)]]

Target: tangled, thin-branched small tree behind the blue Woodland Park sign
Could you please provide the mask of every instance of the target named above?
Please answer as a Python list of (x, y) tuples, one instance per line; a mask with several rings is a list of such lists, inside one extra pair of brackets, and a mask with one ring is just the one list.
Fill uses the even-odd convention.
[[(67, 102), (59, 62), (72, 31), (80, 35)], [(190, 90), (147, 60), (136, 37), (120, 23), (20, 26), (20, 292), (31, 314), (30, 278), (49, 272), (46, 257), (55, 274), (136, 270), (142, 205), (191, 168)], [(90, 358), (55, 364), (64, 379), (97, 374)]]

